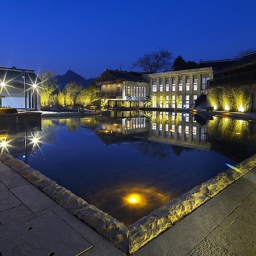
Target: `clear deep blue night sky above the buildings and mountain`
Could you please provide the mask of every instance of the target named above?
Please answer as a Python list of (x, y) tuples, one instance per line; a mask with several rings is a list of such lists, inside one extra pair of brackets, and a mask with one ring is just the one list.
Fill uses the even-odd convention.
[[(241, 5), (241, 3), (243, 5)], [(256, 47), (255, 1), (1, 1), (0, 65), (86, 79), (158, 47), (199, 61)]]

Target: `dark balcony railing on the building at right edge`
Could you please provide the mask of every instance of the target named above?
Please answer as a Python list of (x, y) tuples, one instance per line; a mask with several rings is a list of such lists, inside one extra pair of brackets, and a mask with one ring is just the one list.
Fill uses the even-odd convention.
[(221, 86), (221, 85), (237, 85), (237, 84), (251, 84), (256, 82), (256, 71), (238, 73), (231, 76), (223, 76), (208, 81), (208, 87)]

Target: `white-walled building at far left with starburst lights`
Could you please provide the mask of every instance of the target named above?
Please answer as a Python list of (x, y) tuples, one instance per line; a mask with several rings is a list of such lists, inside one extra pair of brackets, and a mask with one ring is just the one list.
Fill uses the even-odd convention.
[(39, 110), (39, 83), (34, 70), (0, 67), (1, 106)]

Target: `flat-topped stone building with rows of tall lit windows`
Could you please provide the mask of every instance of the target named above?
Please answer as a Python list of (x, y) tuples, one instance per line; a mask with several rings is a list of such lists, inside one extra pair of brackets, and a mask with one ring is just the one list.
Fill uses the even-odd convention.
[(153, 108), (187, 109), (201, 94), (207, 93), (212, 68), (187, 69), (148, 74)]

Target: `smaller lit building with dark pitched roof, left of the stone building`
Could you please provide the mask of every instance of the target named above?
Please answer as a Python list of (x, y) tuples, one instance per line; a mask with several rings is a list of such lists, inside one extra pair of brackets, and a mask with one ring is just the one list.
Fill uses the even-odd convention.
[(150, 94), (145, 73), (106, 69), (96, 82), (101, 85), (98, 97), (109, 108), (142, 107)]

